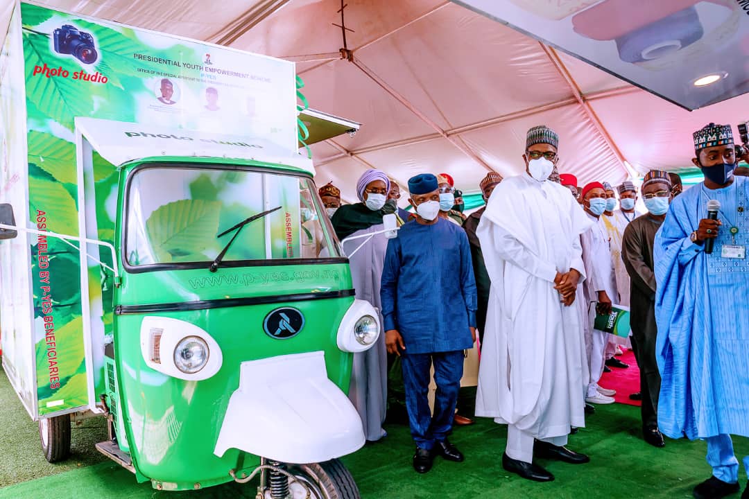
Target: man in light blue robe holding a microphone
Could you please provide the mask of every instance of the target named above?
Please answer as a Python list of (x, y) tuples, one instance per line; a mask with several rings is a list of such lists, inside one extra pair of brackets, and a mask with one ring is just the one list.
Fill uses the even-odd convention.
[[(670, 438), (707, 441), (713, 474), (694, 497), (723, 498), (740, 488), (730, 435), (749, 437), (749, 182), (733, 175), (730, 126), (710, 123), (694, 147), (705, 180), (674, 198), (655, 236), (658, 426)], [(709, 200), (721, 203), (717, 220), (708, 219)]]

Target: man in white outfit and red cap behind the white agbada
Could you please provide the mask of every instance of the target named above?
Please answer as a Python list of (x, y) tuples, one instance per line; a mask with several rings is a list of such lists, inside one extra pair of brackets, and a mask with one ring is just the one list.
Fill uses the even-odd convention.
[(593, 328), (596, 313), (611, 313), (611, 296), (616, 296), (613, 279), (609, 236), (601, 220), (606, 209), (606, 192), (603, 184), (592, 182), (583, 187), (583, 208), (592, 227), (583, 233), (583, 262), (587, 279), (584, 295), (588, 304), (589, 318), (585, 324), (585, 340), (588, 346), (590, 382), (585, 401), (589, 404), (613, 404), (616, 391), (598, 385), (604, 372), (606, 347), (610, 334)]

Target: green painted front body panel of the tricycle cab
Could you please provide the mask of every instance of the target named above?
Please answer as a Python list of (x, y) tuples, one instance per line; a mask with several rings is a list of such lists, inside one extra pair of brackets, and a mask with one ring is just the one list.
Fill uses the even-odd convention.
[[(133, 162), (121, 169), (118, 201), (118, 230), (115, 245), (122, 251), (122, 213), (127, 175), (137, 166), (157, 161), (195, 164), (237, 165), (237, 168), (265, 168), (302, 174), (296, 168), (217, 159), (154, 158)], [(304, 174), (309, 177), (309, 174)], [(121, 259), (122, 260), (122, 259)], [(298, 264), (297, 264), (298, 262)], [(204, 269), (171, 269), (127, 273), (122, 261), (121, 287), (115, 289), (116, 307), (145, 304), (178, 304), (189, 301), (283, 296), (294, 293), (322, 293), (351, 290), (348, 263), (312, 263), (297, 260), (266, 260), (263, 265)], [(273, 263), (285, 263), (272, 265)], [(353, 355), (336, 343), (339, 325), (353, 297), (308, 301), (283, 301), (207, 310), (178, 310), (160, 313), (115, 312), (115, 364), (121, 399), (118, 417), (124, 418), (127, 442), (139, 474), (163, 489), (193, 489), (231, 480), (231, 469), (252, 468), (258, 456), (236, 449), (222, 458), (213, 454), (231, 394), (239, 388), (240, 365), (246, 361), (278, 355), (322, 351), (328, 377), (348, 392)], [(278, 307), (291, 306), (306, 319), (294, 337), (278, 340), (263, 330), (265, 316)], [(140, 329), (145, 316), (180, 319), (207, 331), (222, 349), (222, 367), (210, 379), (189, 382), (167, 376), (145, 364), (140, 346)], [(258, 406), (263, 403), (258, 400)]]

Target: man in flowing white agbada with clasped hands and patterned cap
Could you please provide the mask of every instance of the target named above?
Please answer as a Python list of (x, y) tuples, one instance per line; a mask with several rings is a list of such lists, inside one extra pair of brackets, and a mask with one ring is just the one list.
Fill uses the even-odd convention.
[(585, 426), (585, 346), (571, 305), (584, 278), (580, 234), (592, 221), (548, 181), (558, 142), (546, 126), (528, 131), (526, 173), (494, 189), (476, 230), (491, 278), (476, 415), (509, 425), (503, 467), (539, 482), (554, 475), (533, 464), (534, 451), (589, 461), (564, 446), (571, 426)]

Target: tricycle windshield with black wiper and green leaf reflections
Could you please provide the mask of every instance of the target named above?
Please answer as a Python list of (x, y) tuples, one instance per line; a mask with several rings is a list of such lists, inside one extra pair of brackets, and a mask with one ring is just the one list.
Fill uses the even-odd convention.
[[(208, 268), (224, 250), (225, 266), (342, 257), (309, 177), (234, 165), (147, 165), (130, 174), (125, 196), (128, 266)], [(254, 215), (261, 216), (247, 221)]]

